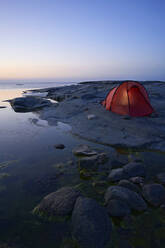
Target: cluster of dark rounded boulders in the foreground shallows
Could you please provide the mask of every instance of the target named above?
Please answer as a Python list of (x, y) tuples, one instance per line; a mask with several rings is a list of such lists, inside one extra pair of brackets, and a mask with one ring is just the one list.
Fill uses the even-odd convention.
[(45, 196), (33, 210), (33, 214), (49, 221), (69, 220), (74, 240), (72, 247), (114, 247), (111, 218), (121, 218), (124, 222), (131, 218), (132, 228), (137, 213), (145, 215), (152, 208), (164, 212), (165, 173), (159, 173), (152, 182), (147, 182), (147, 171), (142, 162), (133, 161), (113, 169), (106, 154), (87, 145), (75, 147), (73, 154), (77, 156), (79, 173), (91, 173), (92, 178), (94, 173), (106, 172), (104, 180), (98, 179), (92, 184), (93, 187), (102, 187), (102, 201), (86, 197), (81, 186), (66, 186)]

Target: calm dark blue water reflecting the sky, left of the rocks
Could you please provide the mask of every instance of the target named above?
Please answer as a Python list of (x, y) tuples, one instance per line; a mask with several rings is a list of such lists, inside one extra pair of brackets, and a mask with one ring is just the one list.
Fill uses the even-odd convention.
[[(44, 87), (50, 86), (33, 85), (33, 88)], [(50, 223), (33, 216), (31, 211), (45, 195), (64, 185), (81, 183), (87, 196), (100, 200), (98, 192), (91, 187), (92, 181), (80, 178), (72, 154), (75, 146), (89, 144), (106, 151), (111, 159), (123, 161), (136, 156), (143, 159), (151, 174), (163, 168), (165, 155), (150, 151), (132, 154), (90, 143), (72, 136), (67, 123), (58, 122), (57, 126), (49, 126), (47, 121), (38, 118), (37, 112), (15, 113), (9, 103), (3, 102), (21, 96), (22, 91), (29, 88), (32, 87), (8, 85), (5, 88), (0, 84), (0, 106), (6, 106), (0, 109), (0, 247), (62, 248), (64, 242), (71, 238), (70, 222)], [(63, 143), (66, 148), (55, 149), (54, 145), (58, 143)], [(71, 160), (73, 164), (68, 164)], [(162, 213), (149, 211), (148, 215), (136, 217), (136, 234), (129, 238), (135, 248), (150, 248), (150, 237), (157, 235), (153, 236), (158, 243), (154, 247), (163, 248), (164, 225)], [(114, 227), (118, 228), (116, 221)], [(116, 244), (118, 236), (115, 237), (116, 234)]]

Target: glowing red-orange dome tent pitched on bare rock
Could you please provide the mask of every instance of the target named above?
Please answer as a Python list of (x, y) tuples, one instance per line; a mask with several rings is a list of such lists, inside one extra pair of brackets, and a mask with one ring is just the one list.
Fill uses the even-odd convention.
[(124, 81), (111, 89), (102, 105), (121, 115), (146, 116), (154, 112), (146, 89), (135, 81)]

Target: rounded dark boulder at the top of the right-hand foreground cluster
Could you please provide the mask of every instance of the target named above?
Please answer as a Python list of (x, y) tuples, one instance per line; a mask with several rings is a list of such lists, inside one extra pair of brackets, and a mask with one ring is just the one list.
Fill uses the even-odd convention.
[(130, 162), (123, 167), (124, 172), (128, 175), (128, 177), (138, 177), (145, 176), (144, 165), (139, 162)]

